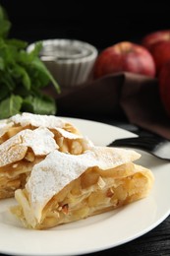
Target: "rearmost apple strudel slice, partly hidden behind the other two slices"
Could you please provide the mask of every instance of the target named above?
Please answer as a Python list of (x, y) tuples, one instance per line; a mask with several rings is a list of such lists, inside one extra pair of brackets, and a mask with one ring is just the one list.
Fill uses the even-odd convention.
[(49, 129), (59, 146), (59, 151), (79, 155), (92, 146), (92, 142), (79, 129), (63, 118), (24, 112), (0, 121), (0, 144), (17, 133), (38, 127)]

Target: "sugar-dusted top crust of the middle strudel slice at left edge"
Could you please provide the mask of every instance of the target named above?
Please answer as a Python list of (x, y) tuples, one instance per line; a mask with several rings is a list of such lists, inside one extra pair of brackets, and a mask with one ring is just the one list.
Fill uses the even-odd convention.
[(32, 149), (34, 155), (43, 156), (58, 149), (53, 139), (54, 135), (47, 128), (23, 130), (0, 145), (0, 166), (22, 160), (28, 150)]

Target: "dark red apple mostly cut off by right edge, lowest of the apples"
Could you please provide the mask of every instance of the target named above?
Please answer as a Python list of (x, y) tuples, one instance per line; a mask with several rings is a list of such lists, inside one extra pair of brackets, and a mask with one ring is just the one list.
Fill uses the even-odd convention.
[(163, 106), (170, 116), (170, 61), (167, 61), (160, 69), (158, 81)]

